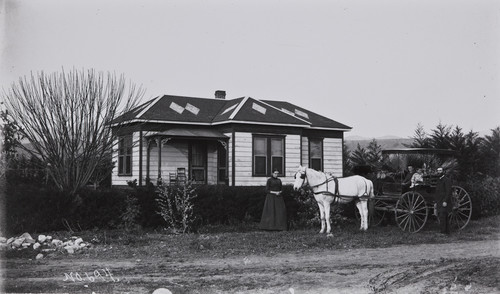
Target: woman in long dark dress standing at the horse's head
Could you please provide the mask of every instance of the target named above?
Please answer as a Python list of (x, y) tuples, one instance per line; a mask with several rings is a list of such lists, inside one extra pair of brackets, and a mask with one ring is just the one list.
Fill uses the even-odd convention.
[(278, 178), (279, 171), (273, 171), (273, 176), (267, 180), (266, 202), (260, 219), (260, 228), (270, 231), (285, 231), (287, 229), (285, 201), (281, 196), (282, 184)]

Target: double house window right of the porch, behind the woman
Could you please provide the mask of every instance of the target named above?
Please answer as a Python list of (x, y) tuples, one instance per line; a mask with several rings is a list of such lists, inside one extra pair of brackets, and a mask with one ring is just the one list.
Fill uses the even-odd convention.
[(269, 176), (277, 169), (285, 171), (285, 138), (278, 136), (253, 137), (253, 174)]

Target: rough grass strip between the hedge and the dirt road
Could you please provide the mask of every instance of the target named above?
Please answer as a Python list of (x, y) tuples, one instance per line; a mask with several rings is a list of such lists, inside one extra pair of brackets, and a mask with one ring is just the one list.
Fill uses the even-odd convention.
[[(198, 233), (169, 234), (163, 230), (95, 230), (75, 233), (93, 248), (73, 255), (73, 258), (175, 258), (225, 257), (251, 254), (300, 253), (314, 250), (383, 248), (394, 245), (415, 245), (478, 241), (500, 237), (500, 216), (474, 220), (462, 231), (442, 235), (437, 223), (429, 222), (416, 233), (409, 234), (397, 226), (371, 227), (358, 230), (354, 221), (332, 228), (333, 236), (319, 234), (317, 229), (285, 232), (261, 231), (257, 223), (245, 226), (207, 226)], [(67, 232), (53, 232), (54, 237), (67, 237)], [(6, 252), (7, 258), (22, 258), (21, 252)], [(34, 253), (29, 253), (33, 255)], [(36, 255), (36, 254), (35, 254)], [(52, 258), (63, 258), (59, 253)]]

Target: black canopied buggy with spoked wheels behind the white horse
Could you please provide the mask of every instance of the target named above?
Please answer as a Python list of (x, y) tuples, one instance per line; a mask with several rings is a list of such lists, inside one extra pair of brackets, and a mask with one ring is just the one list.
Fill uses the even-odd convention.
[[(435, 191), (437, 167), (453, 166), (455, 152), (447, 149), (399, 148), (382, 150), (382, 168), (370, 178), (374, 183), (375, 198), (369, 200), (369, 225), (379, 225), (394, 214), (401, 230), (416, 233), (426, 224), (429, 216), (436, 216)], [(422, 181), (405, 191), (403, 179), (407, 165), (422, 170)], [(452, 229), (467, 226), (472, 214), (472, 202), (467, 191), (452, 186), (452, 211), (449, 214)], [(358, 215), (357, 215), (358, 217)], [(436, 217), (437, 219), (437, 217)]]

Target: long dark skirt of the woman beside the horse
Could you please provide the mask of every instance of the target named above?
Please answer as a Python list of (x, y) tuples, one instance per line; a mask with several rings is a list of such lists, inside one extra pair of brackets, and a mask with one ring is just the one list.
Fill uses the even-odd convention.
[(262, 230), (286, 231), (286, 207), (282, 196), (267, 194), (259, 227)]

